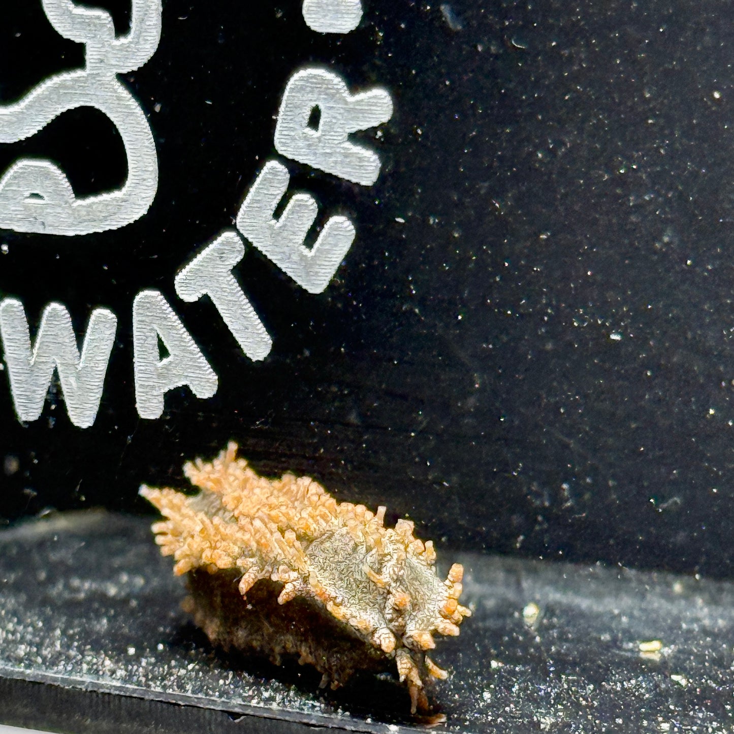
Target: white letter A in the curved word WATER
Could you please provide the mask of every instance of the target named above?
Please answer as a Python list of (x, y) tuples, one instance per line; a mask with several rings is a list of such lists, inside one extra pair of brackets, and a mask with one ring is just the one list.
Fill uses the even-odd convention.
[[(161, 359), (159, 339), (168, 350)], [(217, 392), (217, 375), (160, 291), (133, 301), (134, 374), (141, 418), (160, 418), (168, 390), (188, 385), (197, 398)]]

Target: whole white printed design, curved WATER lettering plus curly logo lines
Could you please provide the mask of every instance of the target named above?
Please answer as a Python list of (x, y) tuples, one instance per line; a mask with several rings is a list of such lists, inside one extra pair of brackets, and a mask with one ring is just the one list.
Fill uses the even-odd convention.
[[(161, 0), (131, 0), (131, 28), (115, 35), (108, 12), (71, 0), (42, 0), (48, 20), (62, 36), (84, 43), (86, 65), (47, 79), (17, 103), (0, 106), (0, 142), (30, 137), (51, 120), (79, 106), (93, 106), (112, 120), (128, 156), (122, 189), (77, 199), (64, 172), (51, 161), (21, 159), (0, 178), (0, 228), (18, 232), (79, 236), (120, 228), (144, 216), (158, 188), (158, 161), (145, 112), (117, 78), (153, 56), (161, 35)], [(359, 0), (305, 0), (307, 25), (318, 33), (352, 32), (362, 19)], [(319, 113), (319, 124), (309, 120)], [(358, 131), (388, 122), (393, 103), (373, 88), (352, 93), (337, 73), (308, 66), (286, 84), (275, 127), (275, 150), (346, 181), (371, 186), (380, 171), (377, 153), (352, 142)], [(312, 294), (327, 288), (355, 240), (347, 218), (327, 219), (313, 247), (305, 240), (319, 215), (308, 193), (288, 197), (290, 174), (283, 161), (266, 161), (236, 217), (236, 228), (219, 233), (175, 275), (184, 302), (208, 297), (251, 360), (272, 349), (267, 333), (233, 272), (249, 241), (299, 286)], [(142, 418), (159, 418), (169, 390), (186, 386), (197, 398), (217, 392), (218, 378), (173, 306), (160, 291), (145, 289), (133, 299), (136, 405)], [(64, 305), (46, 306), (34, 341), (18, 298), (0, 302), (0, 337), (18, 420), (40, 418), (54, 372), (58, 374), (70, 421), (81, 428), (95, 422), (117, 333), (117, 316), (92, 311), (81, 349)], [(161, 358), (159, 344), (167, 355)]]

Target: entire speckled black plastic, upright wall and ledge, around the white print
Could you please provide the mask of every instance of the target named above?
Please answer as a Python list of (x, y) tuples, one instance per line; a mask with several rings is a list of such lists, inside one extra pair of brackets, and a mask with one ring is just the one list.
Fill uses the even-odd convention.
[[(90, 4), (124, 32), (129, 0)], [(159, 153), (149, 214), (73, 241), (0, 232), (0, 298), (22, 299), (32, 333), (51, 300), (79, 335), (96, 305), (119, 318), (91, 429), (70, 425), (57, 385), (19, 424), (0, 375), (0, 523), (149, 512), (141, 482), (181, 486), (184, 459), (234, 439), (262, 473), (386, 504), (465, 564), (475, 616), (436, 654), (454, 669), (433, 695), (444, 728), (730, 729), (734, 585), (692, 574), (734, 578), (734, 10), (363, 4), (342, 39), (311, 32), (300, 0), (164, 0), (159, 50), (124, 79)], [(40, 0), (3, 0), (0, 48), (3, 104), (82, 60)], [(248, 248), (236, 275), (274, 338), (253, 364), (173, 277), (232, 226), (276, 155), (283, 87), (310, 64), (386, 87), (396, 112), (365, 136), (385, 163), (374, 187), (289, 164), (358, 236), (319, 296)], [(0, 145), (0, 174), (22, 154), (58, 161), (81, 194), (125, 177), (119, 136), (90, 109)], [(172, 391), (160, 421), (134, 407), (142, 288), (166, 295), (219, 376), (207, 401)], [(148, 524), (111, 512), (2, 531), (0, 720), (418, 726), (389, 680), (323, 694), (307, 669), (214, 653)]]

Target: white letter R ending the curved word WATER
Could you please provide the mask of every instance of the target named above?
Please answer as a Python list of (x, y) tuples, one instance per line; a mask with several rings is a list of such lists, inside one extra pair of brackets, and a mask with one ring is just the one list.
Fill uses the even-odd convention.
[[(318, 129), (309, 126), (314, 109)], [(349, 142), (349, 134), (386, 123), (393, 102), (383, 89), (352, 95), (333, 71), (306, 68), (288, 80), (275, 126), (275, 148), (281, 156), (371, 186), (379, 175), (379, 156), (366, 145)]]

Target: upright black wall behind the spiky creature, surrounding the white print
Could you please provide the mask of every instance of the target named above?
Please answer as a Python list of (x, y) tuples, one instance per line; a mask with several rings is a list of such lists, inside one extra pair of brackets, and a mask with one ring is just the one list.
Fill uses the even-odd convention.
[[(297, 1), (164, 1), (158, 51), (124, 77), (158, 143), (148, 215), (73, 239), (0, 233), (0, 294), (32, 328), (53, 299), (79, 334), (96, 305), (120, 319), (92, 429), (57, 392), (21, 426), (2, 378), (0, 516), (146, 512), (140, 482), (180, 486), (183, 459), (235, 439), (256, 468), (388, 504), (441, 546), (732, 575), (730, 7), (363, 4), (357, 31), (326, 37)], [(125, 31), (128, 2), (95, 5)], [(6, 103), (83, 62), (40, 0), (3, 4), (0, 48)], [(363, 135), (375, 186), (288, 163), (291, 190), (317, 196), (321, 222), (352, 217), (357, 240), (319, 296), (248, 249), (237, 275), (274, 338), (253, 364), (173, 277), (232, 225), (310, 62), (387, 87), (396, 112)], [(0, 145), (0, 171), (21, 154), (59, 161), (78, 194), (126, 176), (89, 109)], [(142, 288), (219, 375), (213, 399), (168, 393), (159, 421), (134, 408)]]

